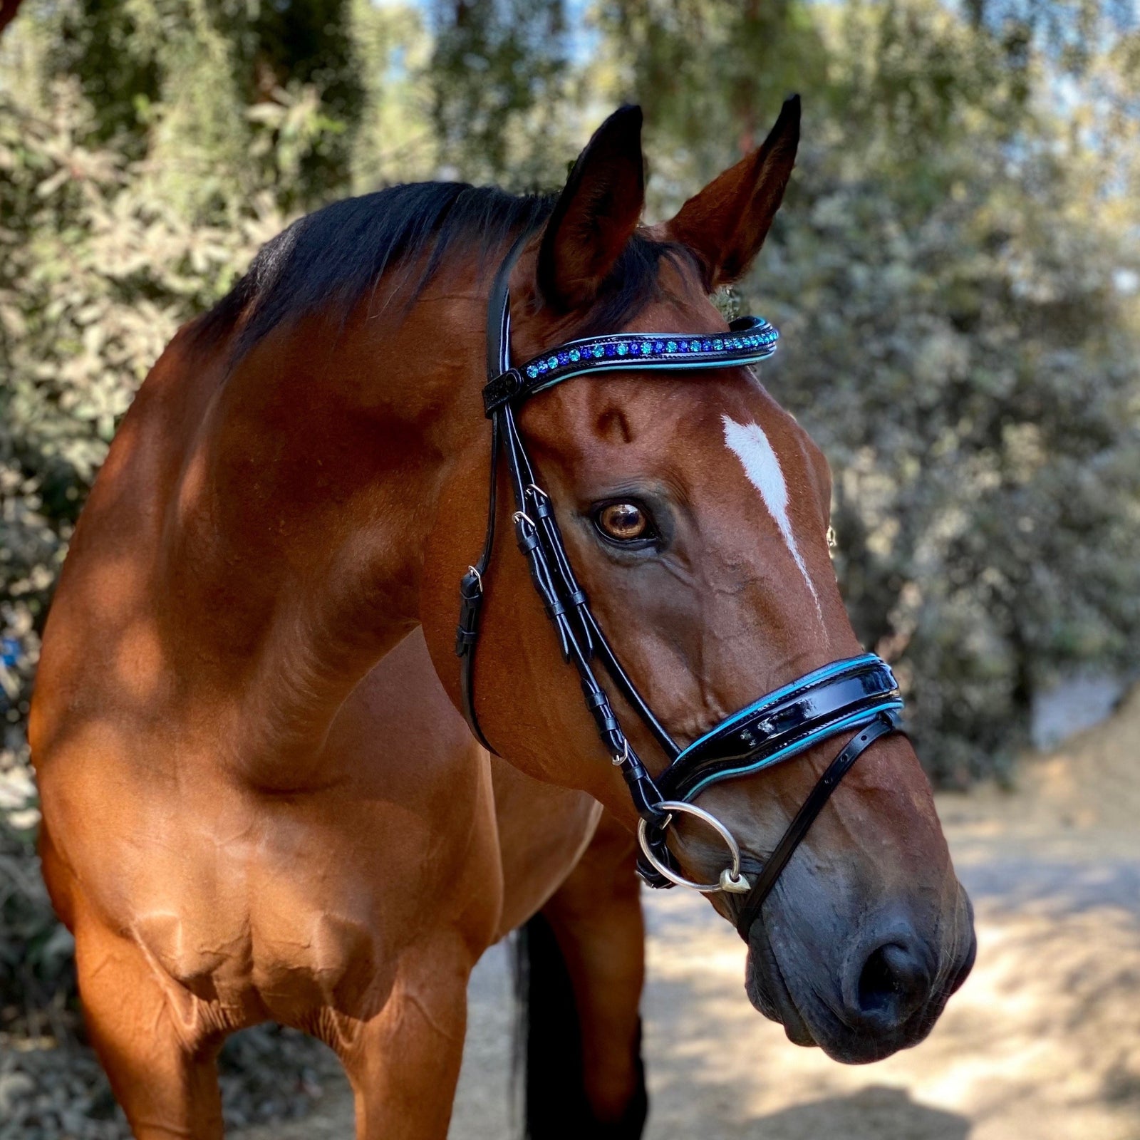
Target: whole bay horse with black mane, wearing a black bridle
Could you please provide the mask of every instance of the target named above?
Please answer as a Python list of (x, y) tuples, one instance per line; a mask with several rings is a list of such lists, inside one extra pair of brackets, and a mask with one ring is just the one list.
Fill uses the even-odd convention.
[(554, 197), (335, 203), (155, 365), (31, 723), (44, 878), (140, 1140), (220, 1137), (217, 1050), (267, 1019), (337, 1052), (359, 1138), (442, 1138), (467, 977), (520, 926), (529, 1135), (640, 1135), (635, 855), (840, 1061), (921, 1040), (964, 978), (969, 902), (844, 610), (826, 463), (758, 381), (774, 331), (709, 301), (798, 138), (789, 100), (652, 227), (635, 107)]

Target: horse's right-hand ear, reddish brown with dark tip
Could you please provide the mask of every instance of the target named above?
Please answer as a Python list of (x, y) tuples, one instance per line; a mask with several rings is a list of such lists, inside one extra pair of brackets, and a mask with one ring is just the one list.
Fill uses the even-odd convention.
[(692, 250), (711, 293), (743, 276), (760, 252), (799, 146), (799, 96), (784, 101), (764, 142), (691, 197), (666, 233)]

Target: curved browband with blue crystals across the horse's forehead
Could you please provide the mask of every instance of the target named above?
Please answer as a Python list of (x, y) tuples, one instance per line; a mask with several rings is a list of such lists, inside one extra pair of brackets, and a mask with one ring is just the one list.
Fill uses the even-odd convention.
[(763, 317), (740, 317), (727, 333), (624, 333), (570, 341), (488, 382), (483, 388), (483, 408), (491, 415), (508, 400), (523, 400), (587, 372), (756, 364), (775, 352), (779, 337)]

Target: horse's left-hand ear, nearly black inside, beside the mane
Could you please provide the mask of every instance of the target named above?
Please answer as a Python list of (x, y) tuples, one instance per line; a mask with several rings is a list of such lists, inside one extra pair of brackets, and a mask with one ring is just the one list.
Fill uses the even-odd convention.
[(645, 203), (641, 107), (620, 107), (602, 123), (570, 171), (538, 251), (543, 299), (581, 309), (633, 236)]

